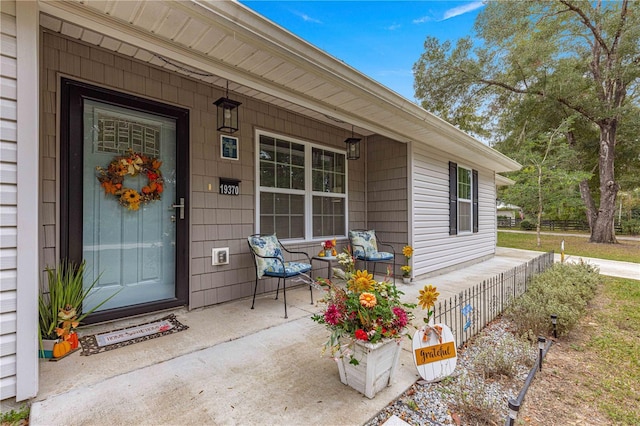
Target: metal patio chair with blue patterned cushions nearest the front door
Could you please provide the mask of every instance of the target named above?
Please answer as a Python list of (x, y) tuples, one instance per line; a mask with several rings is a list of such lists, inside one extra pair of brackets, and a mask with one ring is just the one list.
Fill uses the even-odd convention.
[[(258, 290), (258, 280), (263, 277), (278, 278), (278, 288), (276, 289), (276, 300), (280, 292), (280, 280), (283, 281), (282, 294), (284, 296), (284, 317), (287, 316), (287, 278), (300, 277), (309, 284), (311, 292), (311, 304), (313, 304), (313, 286), (312, 280), (307, 272), (311, 270), (311, 258), (303, 251), (287, 250), (282, 245), (275, 234), (253, 234), (247, 238), (249, 250), (253, 255), (253, 264), (256, 268), (256, 284), (253, 288), (253, 301), (251, 309), (256, 303), (256, 292)], [(308, 263), (287, 261), (285, 255), (303, 255), (307, 258)]]

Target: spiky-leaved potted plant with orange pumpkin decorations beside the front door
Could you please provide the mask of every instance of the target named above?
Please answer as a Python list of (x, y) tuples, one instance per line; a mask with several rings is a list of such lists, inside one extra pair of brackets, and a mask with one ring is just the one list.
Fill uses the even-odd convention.
[(48, 292), (41, 289), (38, 299), (40, 357), (51, 358), (65, 355), (78, 347), (75, 329), (82, 320), (109, 301), (112, 294), (93, 308), (82, 311), (82, 303), (97, 284), (100, 277), (84, 288), (83, 276), (86, 263), (79, 265), (66, 260), (56, 267), (47, 267)]

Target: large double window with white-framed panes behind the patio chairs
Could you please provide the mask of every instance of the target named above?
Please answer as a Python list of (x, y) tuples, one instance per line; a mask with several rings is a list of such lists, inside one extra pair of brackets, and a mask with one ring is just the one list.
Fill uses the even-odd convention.
[(344, 152), (258, 132), (259, 232), (281, 239), (346, 235)]

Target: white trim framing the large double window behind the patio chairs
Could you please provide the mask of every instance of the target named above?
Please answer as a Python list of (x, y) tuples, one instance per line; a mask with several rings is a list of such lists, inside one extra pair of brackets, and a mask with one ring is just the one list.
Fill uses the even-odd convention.
[[(305, 189), (284, 189), (284, 188), (271, 188), (271, 187), (262, 187), (260, 186), (260, 136), (268, 136), (277, 139), (283, 139), (288, 142), (297, 143), (304, 146), (304, 180), (305, 180)], [(322, 191), (313, 191), (313, 181), (312, 181), (312, 149), (318, 148), (325, 151), (332, 151), (338, 154), (342, 154), (345, 156), (345, 172), (344, 172), (344, 194), (336, 194), (330, 193), (333, 198), (344, 198), (344, 235), (334, 235), (337, 238), (346, 238), (347, 230), (349, 228), (349, 162), (346, 159), (347, 152), (344, 149), (337, 149), (327, 145), (321, 145), (318, 143), (313, 143), (309, 141), (305, 141), (302, 139), (298, 139), (295, 137), (273, 133), (266, 130), (255, 130), (255, 230), (257, 233), (260, 233), (260, 193), (261, 191), (268, 192), (277, 192), (283, 194), (295, 194), (295, 195), (304, 195), (304, 215), (305, 215), (305, 223), (304, 223), (304, 238), (290, 238), (290, 239), (282, 239), (282, 241), (295, 241), (295, 242), (316, 242), (316, 241), (324, 241), (326, 238), (313, 237), (313, 197), (314, 196), (327, 196), (328, 193)]]

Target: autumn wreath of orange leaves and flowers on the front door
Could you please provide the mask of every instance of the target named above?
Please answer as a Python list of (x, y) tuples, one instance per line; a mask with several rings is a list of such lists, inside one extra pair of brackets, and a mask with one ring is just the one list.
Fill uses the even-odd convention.
[[(144, 154), (131, 151), (128, 155), (117, 156), (107, 168), (96, 167), (98, 181), (104, 188), (105, 194), (114, 195), (118, 202), (129, 210), (138, 210), (140, 203), (148, 203), (160, 199), (164, 190), (164, 180), (160, 172), (162, 162), (157, 158), (151, 158)], [(143, 174), (148, 181), (138, 192), (132, 188), (123, 186), (127, 176)]]

